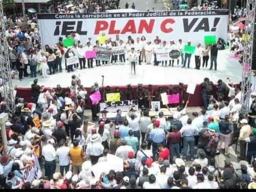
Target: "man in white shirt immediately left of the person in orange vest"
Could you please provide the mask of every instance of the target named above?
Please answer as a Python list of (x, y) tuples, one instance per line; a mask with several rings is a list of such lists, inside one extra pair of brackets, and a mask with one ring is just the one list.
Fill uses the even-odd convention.
[(64, 140), (60, 140), (60, 147), (56, 151), (56, 156), (59, 158), (60, 173), (64, 176), (64, 169), (67, 173), (69, 171), (69, 147), (65, 146)]

